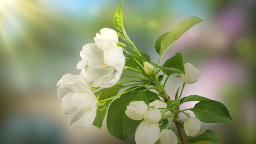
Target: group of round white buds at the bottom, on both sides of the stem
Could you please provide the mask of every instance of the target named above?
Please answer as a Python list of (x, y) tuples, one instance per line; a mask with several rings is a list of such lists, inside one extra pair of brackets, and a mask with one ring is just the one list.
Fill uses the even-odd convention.
[[(149, 103), (149, 107), (144, 101), (132, 101), (127, 106), (125, 114), (129, 118), (144, 120), (136, 129), (136, 144), (155, 144), (157, 140), (160, 140), (161, 144), (177, 144), (178, 139), (173, 131), (165, 128), (160, 132), (158, 122), (162, 115), (165, 115), (164, 112), (160, 111), (160, 108), (164, 109), (166, 106), (167, 104), (159, 100)], [(200, 127), (200, 120), (195, 117), (189, 117), (188, 120), (185, 120), (184, 130), (187, 136), (195, 136)]]

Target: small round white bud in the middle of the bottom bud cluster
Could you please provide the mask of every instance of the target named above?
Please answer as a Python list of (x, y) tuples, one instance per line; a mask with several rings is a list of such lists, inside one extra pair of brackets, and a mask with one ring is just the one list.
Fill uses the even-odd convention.
[(149, 110), (144, 114), (144, 120), (149, 123), (158, 123), (161, 120), (162, 114), (159, 109)]

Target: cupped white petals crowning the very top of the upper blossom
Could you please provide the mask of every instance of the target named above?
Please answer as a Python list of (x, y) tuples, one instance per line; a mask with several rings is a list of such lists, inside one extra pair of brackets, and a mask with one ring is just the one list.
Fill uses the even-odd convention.
[(117, 32), (113, 29), (103, 28), (100, 31), (100, 34), (97, 33), (96, 37), (94, 37), (94, 41), (99, 48), (103, 50), (110, 50), (113, 44), (118, 43), (118, 35)]

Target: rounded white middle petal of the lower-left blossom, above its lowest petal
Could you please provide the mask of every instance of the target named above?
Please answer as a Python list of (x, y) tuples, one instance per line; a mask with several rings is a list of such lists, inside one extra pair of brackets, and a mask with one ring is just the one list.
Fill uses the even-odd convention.
[(91, 109), (96, 106), (96, 98), (91, 93), (75, 93), (71, 96), (73, 99), (73, 106), (76, 106), (78, 110)]

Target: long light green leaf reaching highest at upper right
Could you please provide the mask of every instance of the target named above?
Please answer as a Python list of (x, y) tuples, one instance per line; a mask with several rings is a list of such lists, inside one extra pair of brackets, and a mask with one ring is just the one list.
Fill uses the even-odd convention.
[[(162, 56), (165, 51), (183, 35), (187, 30), (189, 30), (191, 27), (193, 27), (195, 24), (200, 23), (203, 21), (202, 19), (199, 19), (195, 16), (190, 17), (184, 21), (182, 21), (180, 24), (178, 24), (176, 27), (174, 27), (168, 34), (162, 35), (163, 38), (161, 38), (161, 47), (159, 50), (159, 54)], [(161, 37), (161, 36), (160, 36)], [(159, 42), (158, 42), (159, 43)], [(159, 45), (159, 44), (158, 44)], [(156, 48), (157, 50), (159, 48)]]

